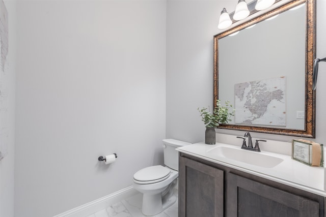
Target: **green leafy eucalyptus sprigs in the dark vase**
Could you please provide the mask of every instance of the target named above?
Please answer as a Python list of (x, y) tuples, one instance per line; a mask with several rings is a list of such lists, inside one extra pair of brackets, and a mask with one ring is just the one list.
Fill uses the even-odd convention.
[[(220, 123), (228, 123), (231, 121), (231, 116), (234, 116), (235, 109), (230, 104), (230, 101), (225, 101), (225, 106), (221, 105), (220, 100), (216, 100), (216, 106), (211, 113), (208, 108), (197, 108), (200, 112), (200, 116), (202, 117), (202, 121), (205, 123), (205, 127), (207, 128), (216, 128), (220, 125)], [(230, 111), (229, 111), (230, 110)]]

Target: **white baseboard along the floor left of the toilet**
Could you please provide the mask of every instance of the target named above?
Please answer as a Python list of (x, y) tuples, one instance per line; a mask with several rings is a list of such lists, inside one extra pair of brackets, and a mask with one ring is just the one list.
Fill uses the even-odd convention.
[(135, 190), (132, 186), (117, 191), (113, 194), (104, 196), (92, 202), (86, 203), (84, 205), (78, 206), (76, 208), (65, 211), (61, 214), (55, 215), (53, 217), (82, 217), (88, 216), (92, 213), (100, 211), (108, 206), (111, 206), (119, 201), (138, 194), (139, 192)]

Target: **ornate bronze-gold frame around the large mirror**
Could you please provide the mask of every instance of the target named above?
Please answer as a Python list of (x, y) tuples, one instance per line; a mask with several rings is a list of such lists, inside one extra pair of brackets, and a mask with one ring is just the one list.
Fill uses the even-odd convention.
[[(287, 11), (290, 8), (294, 8), (298, 5), (306, 3), (306, 67), (305, 67), (305, 129), (283, 129), (273, 127), (257, 127), (250, 125), (220, 125), (217, 128), (229, 129), (229, 130), (241, 130), (252, 131), (259, 133), (270, 133), (288, 136), (309, 137), (315, 138), (315, 90), (312, 88), (313, 80), (313, 60), (316, 55), (316, 0), (294, 0), (283, 6), (280, 6), (272, 11), (269, 11), (263, 15), (253, 18), (243, 24), (235, 26), (226, 32), (214, 36), (214, 101), (219, 99), (219, 39), (224, 38), (230, 34), (251, 26), (255, 23), (261, 22), (267, 18), (273, 17), (277, 14)], [(289, 25), (289, 28), (291, 26)]]

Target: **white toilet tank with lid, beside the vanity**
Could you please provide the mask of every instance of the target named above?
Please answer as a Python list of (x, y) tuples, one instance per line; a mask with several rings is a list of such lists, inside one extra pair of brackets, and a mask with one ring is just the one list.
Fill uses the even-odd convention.
[(171, 169), (179, 171), (179, 151), (177, 151), (176, 148), (190, 145), (191, 143), (175, 139), (164, 139), (162, 141), (164, 148), (164, 164)]

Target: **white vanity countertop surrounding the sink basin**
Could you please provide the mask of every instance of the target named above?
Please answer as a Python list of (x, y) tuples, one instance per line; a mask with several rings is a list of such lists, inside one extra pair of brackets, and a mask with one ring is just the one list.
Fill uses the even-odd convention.
[[(198, 157), (213, 163), (234, 168), (269, 180), (280, 182), (291, 187), (311, 192), (326, 197), (324, 190), (324, 168), (311, 167), (291, 159), (291, 156), (261, 150), (260, 153), (282, 158), (283, 161), (273, 168), (264, 168), (252, 164), (243, 163), (229, 158), (221, 157), (207, 152), (214, 147), (225, 146), (241, 149), (239, 146), (216, 142), (215, 145), (207, 145), (204, 142), (186, 145), (176, 150)], [(241, 149), (242, 150), (242, 149)], [(251, 150), (245, 150), (251, 151)]]

